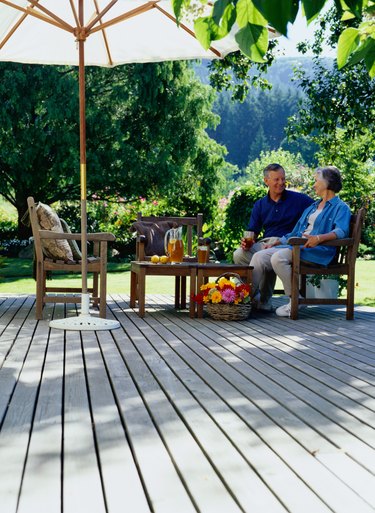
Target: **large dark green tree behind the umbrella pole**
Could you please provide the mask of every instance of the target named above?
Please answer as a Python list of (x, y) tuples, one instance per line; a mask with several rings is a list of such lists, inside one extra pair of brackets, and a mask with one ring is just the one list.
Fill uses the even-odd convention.
[[(217, 151), (221, 159), (222, 149), (202, 138), (217, 121), (212, 92), (186, 63), (88, 68), (86, 82), (89, 195), (171, 192), (188, 166), (198, 166), (198, 154)], [(0, 101), (0, 193), (19, 219), (29, 195), (46, 203), (78, 198), (76, 69), (1, 64)]]

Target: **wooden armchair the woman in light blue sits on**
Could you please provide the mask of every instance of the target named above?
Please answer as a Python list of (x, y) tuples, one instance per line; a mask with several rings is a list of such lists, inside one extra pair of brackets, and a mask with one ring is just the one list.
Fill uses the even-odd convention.
[[(361, 240), (362, 225), (365, 217), (365, 209), (361, 208), (357, 214), (352, 215), (350, 222), (349, 237), (346, 239), (335, 239), (322, 243), (325, 246), (337, 247), (337, 256), (328, 266), (310, 265), (300, 259), (301, 245), (304, 239), (292, 237), (288, 244), (292, 245), (292, 295), (291, 295), (291, 319), (298, 319), (299, 305), (333, 304), (346, 305), (346, 318), (353, 319), (354, 316), (354, 290), (355, 290), (355, 262), (359, 242)], [(346, 298), (316, 299), (306, 298), (306, 276), (321, 274), (346, 275)], [(300, 288), (301, 287), (301, 288)], [(303, 298), (300, 298), (299, 295)]]

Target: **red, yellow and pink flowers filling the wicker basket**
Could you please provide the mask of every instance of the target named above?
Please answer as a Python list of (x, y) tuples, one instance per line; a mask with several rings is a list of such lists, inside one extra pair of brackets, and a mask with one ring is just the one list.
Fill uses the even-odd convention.
[(192, 299), (198, 304), (247, 304), (251, 301), (250, 285), (236, 285), (234, 281), (220, 277), (215, 282), (203, 284)]

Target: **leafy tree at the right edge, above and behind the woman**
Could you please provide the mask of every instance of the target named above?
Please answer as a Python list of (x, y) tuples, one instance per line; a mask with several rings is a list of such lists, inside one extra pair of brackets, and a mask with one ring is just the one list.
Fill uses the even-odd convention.
[[(319, 146), (321, 165), (334, 163), (344, 173), (342, 196), (358, 208), (371, 195), (369, 169), (375, 157), (375, 82), (363, 63), (338, 69), (321, 59), (321, 43), (337, 43), (341, 20), (332, 9), (320, 21), (311, 49), (313, 70), (298, 70), (296, 78), (305, 96), (291, 117), (289, 139), (305, 137)], [(306, 50), (305, 45), (301, 49)], [(373, 188), (372, 188), (373, 189)]]

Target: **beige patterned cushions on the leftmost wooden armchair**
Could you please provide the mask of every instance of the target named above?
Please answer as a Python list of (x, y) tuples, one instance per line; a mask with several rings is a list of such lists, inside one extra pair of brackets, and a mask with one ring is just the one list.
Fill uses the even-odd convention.
[[(50, 206), (39, 202), (35, 206), (35, 212), (37, 214), (38, 224), (41, 230), (51, 230), (56, 233), (64, 233), (58, 215)], [(67, 240), (43, 239), (42, 247), (44, 255), (48, 258), (64, 260), (65, 262), (73, 260), (73, 252)]]

